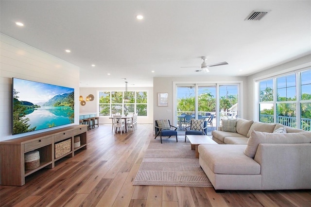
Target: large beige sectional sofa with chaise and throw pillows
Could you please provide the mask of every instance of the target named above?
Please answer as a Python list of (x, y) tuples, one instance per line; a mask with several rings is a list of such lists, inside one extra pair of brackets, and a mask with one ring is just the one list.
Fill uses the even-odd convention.
[(311, 132), (243, 119), (235, 130), (213, 131), (219, 144), (198, 147), (215, 190), (311, 189)]

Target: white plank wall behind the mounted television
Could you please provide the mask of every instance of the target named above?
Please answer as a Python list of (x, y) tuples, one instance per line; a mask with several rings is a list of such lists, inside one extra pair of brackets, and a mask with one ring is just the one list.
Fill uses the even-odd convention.
[(12, 135), (12, 77), (74, 88), (79, 124), (79, 74), (80, 68), (0, 34), (0, 141), (50, 130)]

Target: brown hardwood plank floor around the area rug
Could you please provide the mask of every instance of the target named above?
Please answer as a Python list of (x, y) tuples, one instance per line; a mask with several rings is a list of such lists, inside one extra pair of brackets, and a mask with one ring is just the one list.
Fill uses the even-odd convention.
[(22, 187), (0, 186), (0, 206), (311, 207), (311, 190), (216, 193), (213, 188), (133, 186), (154, 138), (152, 127), (138, 125), (135, 132), (115, 136), (111, 125), (89, 130), (86, 150), (61, 159), (53, 169), (29, 175)]

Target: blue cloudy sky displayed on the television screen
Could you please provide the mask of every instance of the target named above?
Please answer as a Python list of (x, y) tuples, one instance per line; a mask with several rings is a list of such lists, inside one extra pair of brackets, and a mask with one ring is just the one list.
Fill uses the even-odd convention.
[(14, 89), (19, 92), (17, 96), (19, 101), (28, 101), (33, 104), (49, 101), (55, 95), (71, 93), (73, 88), (55, 86), (23, 79), (13, 79)]

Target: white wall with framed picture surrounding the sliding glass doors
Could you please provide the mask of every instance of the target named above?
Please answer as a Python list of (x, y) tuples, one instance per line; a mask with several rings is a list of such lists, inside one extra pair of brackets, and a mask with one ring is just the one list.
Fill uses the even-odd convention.
[[(154, 78), (154, 120), (159, 119), (169, 119), (173, 121), (173, 82), (185, 82), (185, 83), (225, 83), (225, 82), (241, 82), (242, 83), (242, 93), (245, 97), (245, 92), (247, 91), (247, 78), (246, 77), (228, 77), (228, 76), (205, 76), (199, 77), (171, 77), (171, 78)], [(168, 104), (169, 106), (157, 106), (157, 93), (168, 92)], [(241, 102), (243, 102), (243, 97)], [(245, 112), (247, 112), (247, 104), (243, 104), (242, 116), (245, 117)]]

